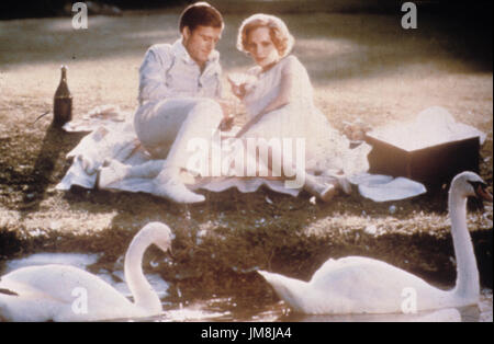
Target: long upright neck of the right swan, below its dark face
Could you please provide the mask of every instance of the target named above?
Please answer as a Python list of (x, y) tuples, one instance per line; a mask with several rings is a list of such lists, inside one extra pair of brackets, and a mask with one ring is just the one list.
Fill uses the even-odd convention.
[(448, 199), (451, 236), (457, 259), (454, 295), (461, 298), (479, 297), (479, 271), (472, 240), (467, 228), (467, 197), (451, 191)]

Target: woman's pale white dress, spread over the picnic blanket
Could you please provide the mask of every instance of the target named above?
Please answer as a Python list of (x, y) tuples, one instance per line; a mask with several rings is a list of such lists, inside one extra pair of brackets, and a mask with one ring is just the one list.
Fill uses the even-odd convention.
[(343, 171), (346, 175), (352, 175), (368, 170), (370, 147), (362, 144), (350, 149), (347, 137), (330, 126), (326, 116), (314, 105), (307, 71), (295, 56), (283, 58), (266, 72), (260, 67), (254, 67), (248, 73), (254, 77), (247, 84), (248, 92), (244, 98), (248, 119), (278, 96), (283, 73), (289, 73), (293, 82), (289, 104), (265, 114), (245, 137), (268, 140), (303, 138), (305, 169), (308, 172)]

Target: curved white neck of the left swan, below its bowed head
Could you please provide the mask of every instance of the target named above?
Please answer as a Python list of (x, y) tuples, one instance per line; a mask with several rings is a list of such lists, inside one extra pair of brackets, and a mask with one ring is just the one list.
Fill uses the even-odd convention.
[(160, 311), (161, 302), (143, 273), (143, 256), (151, 242), (135, 237), (125, 254), (125, 279), (134, 297), (134, 305), (146, 311)]

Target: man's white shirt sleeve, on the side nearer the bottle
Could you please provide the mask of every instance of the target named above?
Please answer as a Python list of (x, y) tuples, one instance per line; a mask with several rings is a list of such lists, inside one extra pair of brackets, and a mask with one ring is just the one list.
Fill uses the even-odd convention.
[(173, 62), (170, 47), (150, 47), (139, 68), (139, 104), (171, 95), (166, 83), (167, 70)]

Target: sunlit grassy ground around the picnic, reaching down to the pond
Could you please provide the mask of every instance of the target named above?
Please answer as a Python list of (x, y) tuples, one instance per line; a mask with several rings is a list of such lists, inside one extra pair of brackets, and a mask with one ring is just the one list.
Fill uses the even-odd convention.
[[(225, 74), (251, 64), (234, 48), (244, 18), (225, 14), (217, 46)], [(426, 15), (409, 31), (401, 27), (401, 14), (281, 18), (296, 38), (293, 54), (308, 70), (315, 102), (336, 128), (358, 118), (378, 127), (444, 106), (457, 121), (487, 134), (480, 169), (492, 185), (492, 42), (485, 43), (482, 32)], [(0, 264), (33, 252), (102, 252), (99, 264), (113, 264), (142, 226), (159, 220), (176, 233), (173, 263), (145, 264), (146, 270), (159, 272), (175, 290), (180, 287), (191, 297), (274, 300), (252, 270), (307, 279), (329, 256), (350, 254), (453, 284), (447, 185), (382, 204), (357, 191), (313, 204), (307, 194), (293, 198), (267, 190), (232, 190), (206, 193), (206, 203), (193, 206), (145, 194), (56, 191), (70, 164), (65, 154), (83, 136), (50, 128), (50, 115), (34, 123), (53, 106), (59, 66), (69, 67), (74, 117), (103, 104), (133, 111), (144, 53), (151, 44), (177, 39), (177, 21), (176, 11), (161, 11), (90, 16), (89, 28), (81, 31), (72, 30), (71, 18), (0, 22)], [(470, 204), (482, 284), (491, 288), (492, 213), (492, 204)], [(371, 225), (374, 232), (366, 230)], [(160, 255), (153, 249), (146, 259)]]

